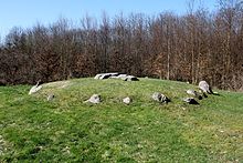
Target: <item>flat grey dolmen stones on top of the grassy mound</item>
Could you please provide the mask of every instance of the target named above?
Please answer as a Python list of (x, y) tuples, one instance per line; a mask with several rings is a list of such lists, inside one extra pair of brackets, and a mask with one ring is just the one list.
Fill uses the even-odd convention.
[(112, 73), (98, 73), (94, 79), (104, 80), (104, 79), (122, 79), (124, 81), (139, 81), (138, 78), (129, 74), (123, 74), (117, 72)]

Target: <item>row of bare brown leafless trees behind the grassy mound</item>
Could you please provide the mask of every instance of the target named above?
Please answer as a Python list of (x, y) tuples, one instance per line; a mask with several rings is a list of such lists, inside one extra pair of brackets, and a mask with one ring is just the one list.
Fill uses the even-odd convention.
[(243, 4), (219, 1), (183, 16), (88, 16), (78, 26), (13, 28), (0, 44), (0, 84), (22, 84), (120, 72), (243, 90)]

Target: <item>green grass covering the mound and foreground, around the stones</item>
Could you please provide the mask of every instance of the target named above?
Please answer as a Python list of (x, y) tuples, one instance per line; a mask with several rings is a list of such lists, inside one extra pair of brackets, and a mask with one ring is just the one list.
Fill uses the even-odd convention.
[[(30, 88), (0, 86), (0, 162), (243, 162), (242, 93), (189, 105), (181, 99), (196, 85), (155, 79), (75, 79), (28, 95)], [(154, 92), (171, 102), (154, 102)], [(94, 93), (103, 102), (84, 103)]]

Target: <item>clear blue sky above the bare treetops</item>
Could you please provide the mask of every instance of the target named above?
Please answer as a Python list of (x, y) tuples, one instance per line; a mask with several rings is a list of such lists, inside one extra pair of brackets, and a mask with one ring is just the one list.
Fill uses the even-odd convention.
[[(0, 37), (3, 38), (13, 27), (31, 28), (38, 22), (50, 24), (59, 18), (72, 21), (89, 17), (99, 19), (104, 12), (109, 18), (123, 12), (156, 16), (165, 11), (187, 13), (189, 0), (0, 0)], [(210, 11), (216, 0), (201, 1)], [(197, 8), (197, 7), (196, 7)]]

